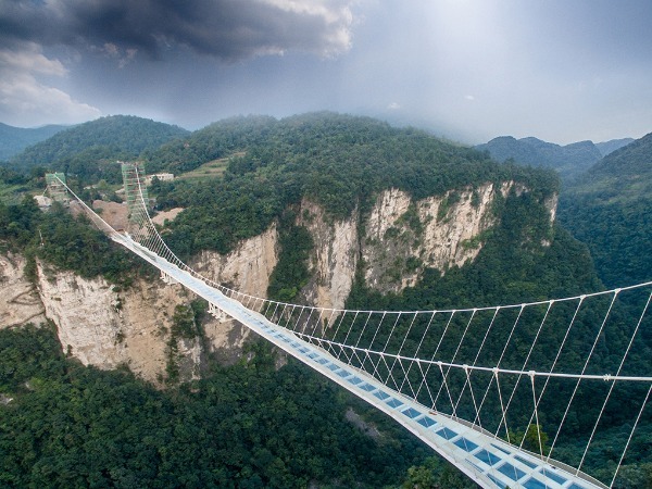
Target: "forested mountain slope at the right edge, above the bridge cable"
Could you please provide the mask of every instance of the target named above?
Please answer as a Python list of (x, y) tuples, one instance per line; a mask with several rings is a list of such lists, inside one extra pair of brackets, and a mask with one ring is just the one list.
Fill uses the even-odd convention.
[(607, 287), (652, 279), (652, 133), (569, 184), (559, 216), (589, 246)]

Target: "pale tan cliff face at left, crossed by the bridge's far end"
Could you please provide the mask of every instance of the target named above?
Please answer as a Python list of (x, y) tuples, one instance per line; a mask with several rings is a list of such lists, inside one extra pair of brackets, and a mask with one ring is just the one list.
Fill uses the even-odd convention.
[[(264, 297), (278, 260), (276, 241), (273, 226), (226, 256), (202, 253), (193, 265), (216, 281)], [(25, 278), (24, 266), (21, 255), (0, 255), (0, 327), (51, 319), (63, 351), (85, 365), (115, 368), (126, 364), (140, 377), (160, 383), (173, 360), (179, 378), (189, 379), (199, 375), (206, 353), (216, 353), (224, 361), (237, 358), (249, 331), (234, 321), (206, 317), (203, 341), (178, 338), (172, 359), (175, 309), (195, 299), (181, 286), (136, 280), (122, 290), (101, 277), (86, 279), (43, 263), (37, 266), (34, 286)]]

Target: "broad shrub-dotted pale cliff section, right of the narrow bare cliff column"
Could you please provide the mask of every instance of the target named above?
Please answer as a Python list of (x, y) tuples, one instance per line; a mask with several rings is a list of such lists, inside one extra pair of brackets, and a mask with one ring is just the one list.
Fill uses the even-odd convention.
[(444, 272), (473, 261), (482, 233), (496, 224), (492, 184), (412, 201), (397, 189), (383, 192), (365, 224), (362, 258), (367, 286), (399, 292), (425, 267)]

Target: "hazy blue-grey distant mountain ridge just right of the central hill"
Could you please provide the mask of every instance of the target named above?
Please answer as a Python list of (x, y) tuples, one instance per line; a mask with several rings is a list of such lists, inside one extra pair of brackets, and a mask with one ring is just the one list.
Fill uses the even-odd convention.
[(501, 136), (485, 145), (476, 146), (480, 151), (489, 151), (498, 161), (514, 160), (516, 163), (553, 168), (563, 180), (568, 180), (595, 164), (602, 153), (591, 141), (559, 146), (537, 138), (515, 139)]

